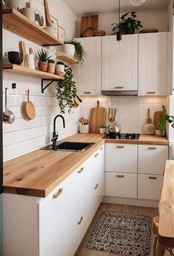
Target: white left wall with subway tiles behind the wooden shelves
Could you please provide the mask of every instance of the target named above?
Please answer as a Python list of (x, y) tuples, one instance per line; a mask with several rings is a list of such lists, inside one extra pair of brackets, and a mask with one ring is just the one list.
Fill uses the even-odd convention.
[[(76, 16), (64, 2), (61, 0), (50, 0), (49, 7), (50, 14), (55, 16), (58, 19), (58, 23), (66, 29), (67, 36), (74, 36)], [(25, 42), (27, 52), (30, 47), (34, 49), (35, 53), (41, 48), (41, 46), (33, 42), (3, 30), (3, 57), (6, 51), (19, 51), (19, 41), (21, 40)], [(50, 49), (52, 54), (54, 51), (55, 48)], [(4, 57), (4, 63), (7, 63), (7, 57)], [(60, 111), (58, 100), (54, 96), (56, 92), (54, 85), (50, 86), (42, 94), (40, 78), (5, 71), (3, 76), (3, 89), (7, 87), (9, 92), (9, 108), (16, 115), (16, 121), (13, 124), (4, 124), (4, 160), (6, 160), (47, 144), (50, 141), (50, 133), (53, 131), (53, 118)], [(12, 83), (16, 83), (16, 89), (12, 89)], [(32, 121), (24, 119), (22, 113), (27, 88), (30, 88), (30, 100), (36, 106), (36, 118)], [(73, 109), (70, 115), (68, 113), (64, 115), (65, 129), (62, 128), (61, 119), (58, 118), (57, 129), (60, 131), (59, 138), (66, 137), (78, 131), (78, 111), (79, 109)]]

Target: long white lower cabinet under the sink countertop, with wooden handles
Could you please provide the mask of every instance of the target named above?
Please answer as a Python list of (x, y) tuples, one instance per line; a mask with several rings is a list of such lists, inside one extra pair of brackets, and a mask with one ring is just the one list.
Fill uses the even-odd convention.
[[(7, 195), (7, 200), (5, 196), (4, 256), (73, 256), (103, 196), (104, 146), (46, 198)], [(14, 198), (18, 199), (17, 208)], [(30, 211), (21, 214), (21, 209), (26, 208), (30, 200)], [(30, 223), (30, 215), (35, 225)], [(12, 217), (16, 223), (21, 223), (22, 229), (10, 221)], [(13, 229), (16, 232), (11, 232)], [(30, 235), (39, 237), (34, 240), (35, 246), (30, 243)], [(14, 246), (9, 250), (8, 244)]]

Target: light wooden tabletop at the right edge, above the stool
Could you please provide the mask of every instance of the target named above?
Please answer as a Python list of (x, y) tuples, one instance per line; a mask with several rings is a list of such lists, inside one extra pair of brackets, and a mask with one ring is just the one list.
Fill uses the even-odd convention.
[(159, 203), (158, 233), (161, 237), (174, 238), (174, 161), (167, 160)]

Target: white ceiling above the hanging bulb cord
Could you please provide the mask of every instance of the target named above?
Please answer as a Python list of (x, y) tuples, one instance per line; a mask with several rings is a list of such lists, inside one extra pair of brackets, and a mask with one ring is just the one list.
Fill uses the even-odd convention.
[[(170, 0), (146, 0), (144, 4), (134, 7), (129, 0), (121, 0), (121, 13), (142, 10), (167, 10), (169, 2)], [(64, 3), (70, 7), (76, 16), (118, 12), (118, 0), (64, 0)]]

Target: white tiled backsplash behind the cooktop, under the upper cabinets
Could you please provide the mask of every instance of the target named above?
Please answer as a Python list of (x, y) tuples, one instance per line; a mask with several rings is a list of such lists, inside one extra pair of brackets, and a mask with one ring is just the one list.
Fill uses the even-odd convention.
[[(96, 106), (97, 100), (101, 106), (116, 107), (116, 121), (121, 124), (121, 132), (144, 133), (143, 127), (147, 120), (147, 109), (151, 110), (151, 118), (155, 111), (162, 111), (166, 106), (166, 97), (82, 97), (80, 116), (89, 118), (90, 109)], [(108, 123), (109, 124), (109, 123)]]

